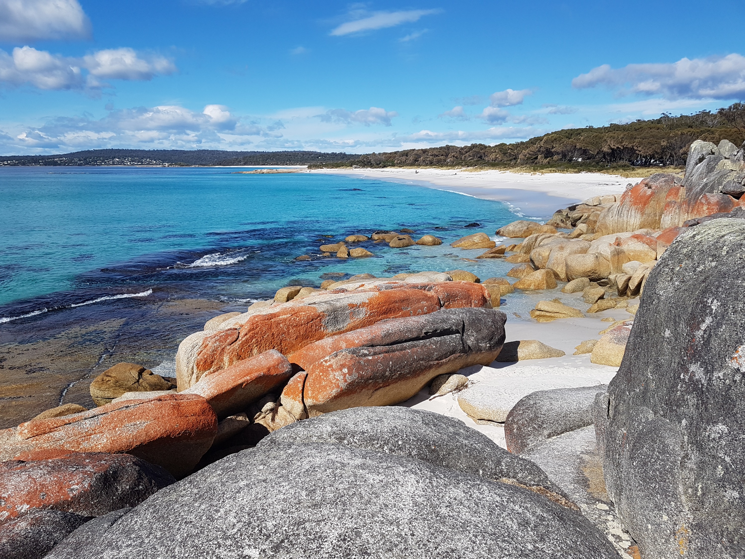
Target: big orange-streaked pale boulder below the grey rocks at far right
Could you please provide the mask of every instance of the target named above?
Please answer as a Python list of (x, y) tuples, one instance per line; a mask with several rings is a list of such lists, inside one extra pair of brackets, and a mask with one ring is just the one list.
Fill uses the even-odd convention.
[(595, 231), (609, 235), (645, 228), (659, 230), (668, 203), (682, 200), (685, 190), (679, 181), (673, 174), (656, 173), (647, 177), (600, 214)]

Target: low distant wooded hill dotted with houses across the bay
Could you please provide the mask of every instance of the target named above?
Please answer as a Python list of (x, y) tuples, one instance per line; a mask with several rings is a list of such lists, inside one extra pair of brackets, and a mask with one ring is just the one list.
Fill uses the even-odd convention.
[(309, 165), (352, 154), (320, 151), (87, 150), (59, 155), (0, 156), (0, 165)]

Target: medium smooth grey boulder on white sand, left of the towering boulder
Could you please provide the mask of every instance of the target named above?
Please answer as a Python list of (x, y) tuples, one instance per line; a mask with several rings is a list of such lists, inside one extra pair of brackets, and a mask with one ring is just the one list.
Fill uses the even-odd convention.
[(507, 449), (520, 454), (548, 438), (592, 425), (595, 395), (607, 388), (607, 385), (556, 388), (528, 394), (516, 403), (504, 421)]

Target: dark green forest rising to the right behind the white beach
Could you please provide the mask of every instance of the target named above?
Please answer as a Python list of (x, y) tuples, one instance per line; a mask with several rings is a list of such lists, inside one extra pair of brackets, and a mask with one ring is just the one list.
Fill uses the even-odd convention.
[(347, 161), (314, 166), (510, 168), (557, 164), (574, 167), (685, 165), (688, 148), (697, 139), (714, 143), (728, 139), (735, 145), (741, 145), (745, 141), (745, 104), (736, 103), (716, 113), (663, 114), (659, 119), (637, 120), (628, 124), (557, 130), (513, 144), (444, 145), (440, 148), (364, 154)]

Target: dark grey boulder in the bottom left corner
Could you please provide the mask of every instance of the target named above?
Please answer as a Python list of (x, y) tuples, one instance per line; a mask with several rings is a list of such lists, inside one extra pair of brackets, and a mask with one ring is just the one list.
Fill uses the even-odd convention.
[(0, 558), (41, 559), (90, 517), (63, 511), (32, 511), (0, 524)]

